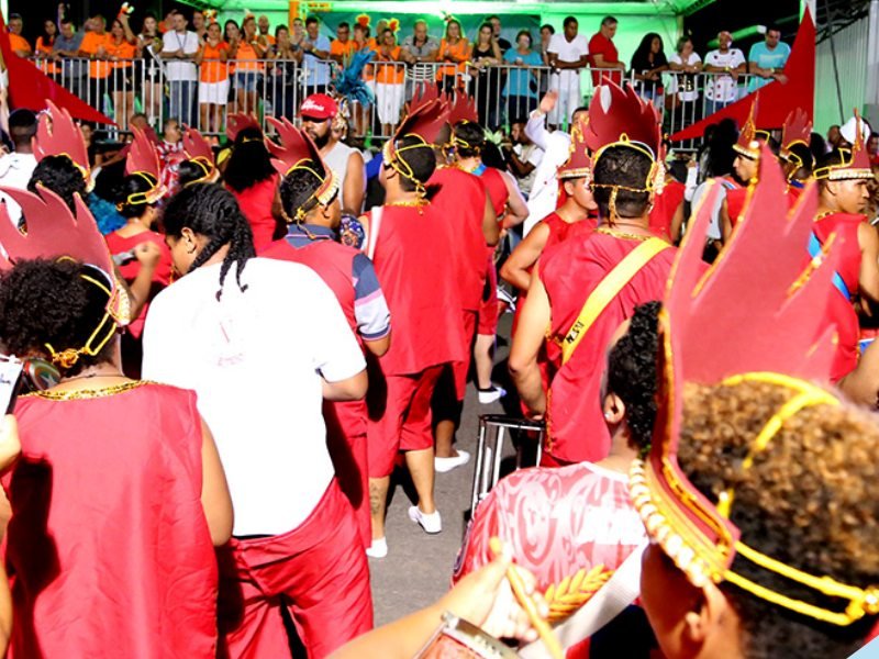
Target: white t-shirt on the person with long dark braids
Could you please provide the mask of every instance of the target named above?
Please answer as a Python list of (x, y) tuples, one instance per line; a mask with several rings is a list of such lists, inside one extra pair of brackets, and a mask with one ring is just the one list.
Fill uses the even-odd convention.
[(336, 382), (364, 355), (330, 288), (300, 264), (253, 258), (162, 291), (144, 328), (145, 379), (192, 389), (216, 442), (235, 509), (235, 535), (299, 526), (333, 478), (321, 376)]

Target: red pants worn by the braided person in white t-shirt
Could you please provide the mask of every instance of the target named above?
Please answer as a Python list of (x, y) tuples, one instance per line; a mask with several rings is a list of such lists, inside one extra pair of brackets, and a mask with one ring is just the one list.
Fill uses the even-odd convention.
[(372, 628), (366, 552), (335, 480), (299, 527), (265, 538), (232, 538), (218, 559), (221, 659), (289, 657), (282, 605), (310, 659)]

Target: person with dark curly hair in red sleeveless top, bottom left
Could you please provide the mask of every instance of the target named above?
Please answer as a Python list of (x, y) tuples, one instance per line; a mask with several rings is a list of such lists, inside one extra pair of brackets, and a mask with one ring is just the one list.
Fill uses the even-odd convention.
[(19, 399), (22, 454), (2, 477), (16, 657), (215, 655), (223, 468), (192, 392), (122, 373), (119, 292), (68, 257), (0, 275), (0, 342), (60, 371)]

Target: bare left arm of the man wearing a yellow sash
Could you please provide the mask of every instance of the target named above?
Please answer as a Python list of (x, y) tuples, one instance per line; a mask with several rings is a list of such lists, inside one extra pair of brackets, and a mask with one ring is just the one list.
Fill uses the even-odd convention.
[(539, 263), (534, 266), (528, 294), (519, 316), (508, 361), (519, 398), (527, 407), (528, 418), (533, 420), (541, 420), (546, 413), (546, 393), (541, 381), (537, 355), (552, 321), (549, 297), (541, 281), (539, 267)]

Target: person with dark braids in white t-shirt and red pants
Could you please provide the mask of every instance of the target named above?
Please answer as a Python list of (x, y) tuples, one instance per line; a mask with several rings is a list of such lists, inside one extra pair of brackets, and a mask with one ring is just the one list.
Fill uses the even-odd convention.
[(144, 375), (198, 393), (229, 473), (221, 656), (289, 657), (288, 606), (309, 656), (323, 657), (372, 627), (366, 554), (321, 414), (322, 399), (364, 396), (363, 351), (314, 271), (255, 257), (221, 186), (183, 188), (163, 223), (181, 278), (149, 309)]

